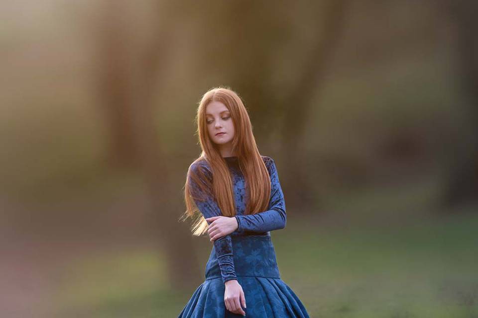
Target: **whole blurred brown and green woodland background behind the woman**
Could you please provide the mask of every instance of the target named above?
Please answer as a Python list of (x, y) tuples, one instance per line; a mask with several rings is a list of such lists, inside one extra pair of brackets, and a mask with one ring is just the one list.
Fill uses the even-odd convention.
[(311, 317), (478, 317), (477, 9), (2, 1), (1, 317), (177, 317), (212, 247), (178, 219), (220, 85), (276, 162)]

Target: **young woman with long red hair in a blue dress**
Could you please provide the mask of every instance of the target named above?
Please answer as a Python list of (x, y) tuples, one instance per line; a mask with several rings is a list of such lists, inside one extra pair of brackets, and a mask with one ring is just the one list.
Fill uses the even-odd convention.
[(207, 232), (214, 246), (206, 280), (178, 318), (308, 318), (280, 278), (270, 237), (286, 224), (275, 162), (259, 154), (238, 94), (209, 90), (196, 120), (202, 154), (189, 166), (185, 217), (199, 210), (193, 235)]

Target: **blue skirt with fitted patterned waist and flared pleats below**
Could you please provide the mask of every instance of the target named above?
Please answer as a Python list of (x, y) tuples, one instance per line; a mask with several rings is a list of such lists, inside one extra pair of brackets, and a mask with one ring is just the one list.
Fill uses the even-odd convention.
[[(270, 234), (232, 236), (234, 266), (245, 296), (245, 317), (309, 318), (292, 289), (280, 278)], [(243, 317), (224, 303), (225, 286), (213, 249), (206, 264), (205, 281), (194, 291), (178, 318)]]

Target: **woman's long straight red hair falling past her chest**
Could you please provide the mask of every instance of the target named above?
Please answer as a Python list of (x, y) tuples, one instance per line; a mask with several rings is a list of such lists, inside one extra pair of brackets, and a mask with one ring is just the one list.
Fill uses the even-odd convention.
[[(218, 101), (226, 105), (231, 113), (235, 135), (233, 138), (233, 153), (239, 159), (240, 169), (244, 175), (247, 204), (244, 214), (255, 214), (266, 211), (270, 200), (270, 177), (265, 163), (257, 149), (254, 135), (252, 134), (252, 125), (242, 100), (239, 95), (228, 87), (215, 87), (208, 90), (201, 101), (196, 115), (197, 135), (202, 149), (201, 156), (194, 160), (188, 169), (186, 183), (184, 185), (184, 200), (186, 211), (183, 219), (198, 215), (191, 230), (194, 236), (200, 236), (207, 231), (208, 223), (203, 215), (198, 211), (193, 197), (189, 179), (196, 184), (204, 187), (205, 190), (212, 189), (209, 192), (216, 199), (222, 215), (233, 217), (236, 215), (236, 205), (234, 202), (233, 182), (227, 166), (226, 160), (222, 157), (216, 144), (209, 138), (206, 124), (206, 107), (209, 103)], [(208, 182), (202, 171), (192, 169), (193, 164), (205, 160), (212, 172), (212, 184)], [(203, 162), (204, 163), (204, 162)]]

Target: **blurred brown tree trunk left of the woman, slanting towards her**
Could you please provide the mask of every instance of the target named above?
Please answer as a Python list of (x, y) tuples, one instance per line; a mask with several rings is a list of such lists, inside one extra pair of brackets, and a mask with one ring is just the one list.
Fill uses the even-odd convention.
[[(105, 2), (96, 35), (99, 93), (110, 123), (110, 161), (119, 167), (138, 169), (145, 177), (153, 211), (151, 221), (159, 229), (167, 255), (168, 277), (177, 288), (189, 289), (196, 284), (191, 278), (200, 277), (200, 267), (191, 255), (191, 233), (178, 223), (178, 214), (170, 213), (180, 205), (170, 202), (177, 191), (169, 186), (174, 175), (168, 166), (175, 159), (162, 151), (153, 103), (153, 93), (164, 84), (160, 82), (164, 77), (158, 73), (169, 61), (166, 44), (175, 24), (160, 15), (163, 8), (158, 2), (149, 4), (133, 7), (128, 1)], [(143, 10), (141, 16), (150, 17), (150, 23), (135, 19), (134, 10)], [(153, 14), (148, 15), (147, 10)]]

